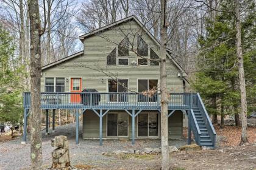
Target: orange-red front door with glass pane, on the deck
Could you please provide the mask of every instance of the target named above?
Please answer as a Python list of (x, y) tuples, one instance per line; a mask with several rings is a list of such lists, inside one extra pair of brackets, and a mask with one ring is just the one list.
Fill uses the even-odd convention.
[[(71, 78), (70, 92), (82, 92), (82, 78)], [(71, 103), (80, 103), (80, 94), (71, 94)]]

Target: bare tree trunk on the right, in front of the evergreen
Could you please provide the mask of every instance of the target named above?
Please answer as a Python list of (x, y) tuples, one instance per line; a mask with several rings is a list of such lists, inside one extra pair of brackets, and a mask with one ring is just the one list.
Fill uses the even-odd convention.
[(244, 63), (241, 44), (241, 21), (240, 21), (240, 4), (235, 0), (235, 16), (236, 16), (236, 55), (238, 58), (239, 86), (241, 94), (241, 123), (242, 134), (240, 144), (248, 143), (247, 139), (247, 101), (246, 101), (246, 84), (244, 80)]

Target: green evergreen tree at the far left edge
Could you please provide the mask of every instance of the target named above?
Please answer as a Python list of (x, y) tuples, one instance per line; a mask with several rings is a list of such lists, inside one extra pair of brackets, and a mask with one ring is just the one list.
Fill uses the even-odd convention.
[(14, 50), (12, 36), (0, 26), (0, 121), (13, 127), (21, 123), (23, 112), (22, 87), (17, 76), (20, 69), (14, 69), (18, 62)]

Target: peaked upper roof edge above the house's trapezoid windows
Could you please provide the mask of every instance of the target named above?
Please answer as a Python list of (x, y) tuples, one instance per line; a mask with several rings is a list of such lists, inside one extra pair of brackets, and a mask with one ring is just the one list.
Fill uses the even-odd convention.
[[(146, 32), (149, 37), (155, 41), (155, 43), (160, 46), (160, 42), (155, 39), (155, 37), (151, 34), (151, 32), (149, 32), (148, 29), (146, 29), (146, 27), (144, 27), (144, 25), (136, 18), (136, 16), (132, 15), (132, 16), (128, 16), (127, 18), (124, 18), (124, 19), (121, 19), (119, 21), (116, 21), (116, 22), (113, 22), (112, 24), (108, 24), (108, 25), (105, 25), (104, 27), (101, 27), (100, 29), (96, 29), (96, 30), (93, 30), (92, 32), (89, 32), (89, 33), (86, 33), (84, 35), (80, 35), (79, 36), (79, 39), (83, 42), (84, 39), (92, 36), (92, 35), (96, 35), (97, 33), (101, 33), (103, 32), (104, 30), (107, 30), (107, 29), (110, 29), (111, 27), (115, 27), (116, 25), (119, 25), (119, 24), (123, 24), (123, 22), (127, 22), (127, 21), (131, 21), (131, 20), (134, 20), (135, 22), (138, 23), (138, 25), (140, 25), (141, 28), (143, 28), (144, 32)], [(182, 67), (179, 65), (179, 63), (177, 63), (174, 58), (172, 58), (172, 56), (170, 55), (171, 54), (171, 50), (167, 49), (168, 52), (166, 52), (168, 58), (178, 67), (178, 69), (182, 72), (182, 76), (183, 77), (187, 77), (187, 73), (185, 72), (185, 70), (182, 69)]]

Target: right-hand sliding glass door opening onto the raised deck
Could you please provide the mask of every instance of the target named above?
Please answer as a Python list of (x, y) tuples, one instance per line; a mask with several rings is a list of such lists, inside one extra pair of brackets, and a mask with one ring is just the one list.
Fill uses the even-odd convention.
[[(138, 80), (138, 92), (142, 93), (148, 90), (156, 89), (157, 90), (158, 80)], [(156, 102), (157, 101), (157, 92), (154, 95), (148, 96), (139, 94), (138, 102)]]

